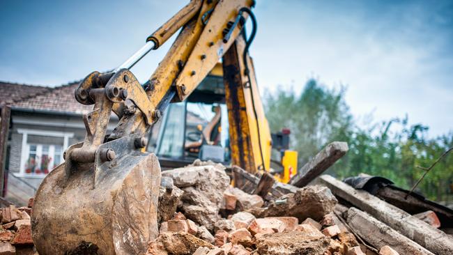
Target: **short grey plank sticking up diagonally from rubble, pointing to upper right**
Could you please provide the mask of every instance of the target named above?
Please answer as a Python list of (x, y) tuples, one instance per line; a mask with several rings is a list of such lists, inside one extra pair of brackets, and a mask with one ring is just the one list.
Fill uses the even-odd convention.
[(299, 169), (298, 174), (293, 176), (289, 183), (296, 187), (304, 187), (343, 157), (348, 149), (348, 144), (344, 141), (334, 141), (328, 144)]

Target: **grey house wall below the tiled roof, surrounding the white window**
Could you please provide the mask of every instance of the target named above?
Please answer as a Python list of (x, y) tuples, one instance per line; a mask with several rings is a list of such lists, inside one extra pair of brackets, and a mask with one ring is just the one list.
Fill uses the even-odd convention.
[[(5, 197), (13, 203), (24, 205), (31, 196), (34, 196), (45, 178), (45, 174), (30, 174), (24, 170), (24, 160), (29, 157), (29, 155), (22, 155), (24, 151), (25, 153), (28, 151), (23, 150), (24, 133), (28, 132), (26, 141), (29, 144), (52, 144), (54, 147), (61, 146), (64, 151), (67, 146), (83, 141), (86, 131), (82, 116), (12, 111), (11, 119), (13, 125), (8, 139), (8, 165), (6, 166), (8, 179)], [(113, 130), (117, 122), (118, 119), (114, 118), (109, 125), (109, 130)], [(58, 137), (60, 134), (68, 136), (64, 146), (64, 138)]]

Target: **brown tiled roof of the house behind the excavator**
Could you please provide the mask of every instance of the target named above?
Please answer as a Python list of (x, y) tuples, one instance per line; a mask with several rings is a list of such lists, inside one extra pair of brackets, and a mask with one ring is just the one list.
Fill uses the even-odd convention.
[(75, 100), (77, 86), (78, 82), (54, 88), (0, 82), (0, 103), (21, 109), (86, 114), (93, 106)]

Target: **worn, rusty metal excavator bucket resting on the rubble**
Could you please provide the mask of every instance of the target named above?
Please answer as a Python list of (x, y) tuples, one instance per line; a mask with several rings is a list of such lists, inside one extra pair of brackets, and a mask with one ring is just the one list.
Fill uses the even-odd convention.
[[(40, 185), (31, 218), (39, 254), (144, 254), (158, 236), (160, 165), (152, 153), (137, 150), (133, 134), (96, 150), (95, 162), (66, 162)], [(116, 152), (102, 162), (103, 149)]]

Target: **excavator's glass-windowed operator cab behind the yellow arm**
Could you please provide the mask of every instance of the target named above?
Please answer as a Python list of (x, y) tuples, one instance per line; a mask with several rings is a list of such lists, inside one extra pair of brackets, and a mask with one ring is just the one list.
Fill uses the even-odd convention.
[(222, 63), (217, 63), (183, 102), (167, 107), (150, 130), (148, 152), (160, 159), (162, 169), (183, 167), (196, 159), (231, 162), (229, 123)]

